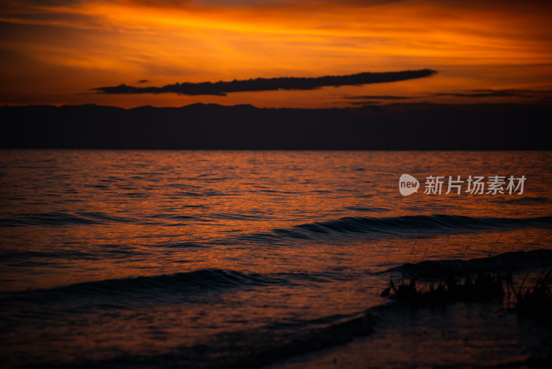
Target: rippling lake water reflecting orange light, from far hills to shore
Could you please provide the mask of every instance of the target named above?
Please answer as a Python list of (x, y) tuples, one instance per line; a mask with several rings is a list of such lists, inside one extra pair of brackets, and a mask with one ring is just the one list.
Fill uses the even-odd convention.
[[(530, 151), (0, 151), (0, 360), (256, 367), (341, 343), (406, 263), (552, 264), (551, 168)], [(449, 176), (487, 187), (446, 194)]]

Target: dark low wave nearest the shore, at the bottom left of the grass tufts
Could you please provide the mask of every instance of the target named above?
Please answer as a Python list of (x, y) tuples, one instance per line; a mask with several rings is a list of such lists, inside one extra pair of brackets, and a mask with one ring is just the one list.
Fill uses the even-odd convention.
[(297, 325), (221, 332), (191, 346), (179, 346), (170, 352), (119, 354), (109, 359), (43, 361), (26, 368), (262, 368), (270, 363), (307, 352), (331, 348), (374, 332), (380, 312), (387, 306), (357, 314), (325, 316)]

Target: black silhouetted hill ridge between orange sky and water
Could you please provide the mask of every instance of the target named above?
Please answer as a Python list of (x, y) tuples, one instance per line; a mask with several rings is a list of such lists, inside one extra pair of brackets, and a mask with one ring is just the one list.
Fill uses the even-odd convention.
[(552, 108), (3, 106), (0, 146), (59, 149), (550, 150)]

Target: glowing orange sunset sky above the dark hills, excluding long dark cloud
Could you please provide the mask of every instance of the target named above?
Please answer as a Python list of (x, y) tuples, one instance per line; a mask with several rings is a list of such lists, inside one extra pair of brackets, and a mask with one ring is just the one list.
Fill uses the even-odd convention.
[[(0, 105), (551, 102), (552, 2), (0, 1)], [(95, 88), (364, 72), (430, 77), (226, 95)]]

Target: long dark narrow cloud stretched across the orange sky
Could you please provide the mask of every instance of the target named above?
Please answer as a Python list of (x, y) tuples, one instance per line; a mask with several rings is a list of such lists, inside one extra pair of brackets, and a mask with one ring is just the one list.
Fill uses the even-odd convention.
[(435, 70), (404, 70), (401, 72), (357, 73), (355, 75), (327, 75), (324, 77), (277, 77), (236, 80), (231, 82), (176, 83), (163, 87), (135, 87), (121, 84), (92, 88), (92, 91), (106, 94), (135, 93), (178, 93), (179, 95), (220, 95), (234, 92), (276, 91), (276, 90), (313, 90), (326, 86), (353, 86), (397, 82), (406, 79), (430, 77)]

